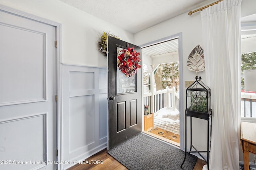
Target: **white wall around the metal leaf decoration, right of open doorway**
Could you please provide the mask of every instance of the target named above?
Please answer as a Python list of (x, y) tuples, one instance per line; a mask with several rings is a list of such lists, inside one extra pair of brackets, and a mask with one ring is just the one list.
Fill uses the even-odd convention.
[[(206, 1), (205, 4), (210, 4), (212, 2), (215, 2), (215, 0)], [(255, 0), (242, 0), (241, 16), (244, 17), (251, 14), (255, 14), (256, 13), (255, 6), (256, 6)], [(192, 16), (188, 16), (188, 13), (184, 13), (168, 21), (162, 22), (158, 25), (154, 25), (153, 27), (140, 31), (134, 35), (134, 43), (137, 45), (142, 45), (142, 44), (146, 44), (151, 41), (168, 37), (170, 35), (174, 35), (180, 32), (182, 32), (183, 79), (184, 81), (194, 80), (194, 77), (196, 76), (196, 74), (188, 70), (187, 59), (190, 52), (198, 44), (204, 49), (203, 40), (202, 40), (202, 24), (201, 24), (200, 12), (194, 13), (192, 14)], [(199, 76), (202, 77), (202, 81), (206, 82), (205, 72), (199, 72), (198, 74)], [(185, 93), (186, 88), (181, 87), (181, 89), (184, 92), (183, 114), (185, 114), (184, 111), (186, 109), (186, 105), (185, 105), (186, 104), (186, 93)], [(192, 122), (193, 122), (192, 143), (197, 149), (205, 150), (207, 147), (206, 145), (207, 122), (202, 119), (196, 119), (196, 118), (193, 118)], [(190, 146), (189, 143), (190, 142), (188, 142), (188, 146)], [(240, 160), (242, 161), (241, 158)]]

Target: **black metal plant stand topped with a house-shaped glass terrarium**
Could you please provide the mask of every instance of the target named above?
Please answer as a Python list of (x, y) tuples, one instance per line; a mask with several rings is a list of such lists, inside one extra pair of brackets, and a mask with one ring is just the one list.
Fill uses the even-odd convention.
[[(209, 157), (210, 157), (210, 141), (212, 136), (212, 109), (210, 109), (210, 88), (203, 82), (201, 77), (196, 76), (196, 81), (186, 89), (186, 113), (185, 113), (185, 157), (181, 164), (184, 164), (187, 153), (197, 152), (204, 161), (207, 162), (209, 170)], [(203, 106), (203, 107), (202, 107)], [(205, 107), (204, 107), (205, 106)], [(187, 151), (187, 117), (190, 117), (190, 150)], [(204, 119), (207, 121), (207, 150), (197, 150), (192, 145), (192, 117)], [(195, 151), (192, 151), (192, 148)], [(202, 156), (201, 152), (207, 153), (207, 160)]]

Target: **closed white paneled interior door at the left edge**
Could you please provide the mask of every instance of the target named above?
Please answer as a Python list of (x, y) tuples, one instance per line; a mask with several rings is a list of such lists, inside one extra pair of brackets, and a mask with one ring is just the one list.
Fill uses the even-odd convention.
[(55, 170), (56, 27), (0, 12), (0, 169)]

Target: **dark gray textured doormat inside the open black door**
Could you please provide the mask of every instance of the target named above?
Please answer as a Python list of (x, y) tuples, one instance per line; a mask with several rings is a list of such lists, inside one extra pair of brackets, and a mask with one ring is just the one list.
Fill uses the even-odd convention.
[(108, 150), (108, 154), (129, 170), (193, 170), (197, 157), (140, 133)]

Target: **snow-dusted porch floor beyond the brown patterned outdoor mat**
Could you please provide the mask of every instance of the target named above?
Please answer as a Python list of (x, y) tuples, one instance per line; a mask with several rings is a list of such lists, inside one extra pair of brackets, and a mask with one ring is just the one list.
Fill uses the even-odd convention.
[(154, 113), (154, 127), (180, 135), (179, 111), (172, 108), (163, 108)]

